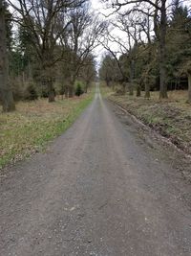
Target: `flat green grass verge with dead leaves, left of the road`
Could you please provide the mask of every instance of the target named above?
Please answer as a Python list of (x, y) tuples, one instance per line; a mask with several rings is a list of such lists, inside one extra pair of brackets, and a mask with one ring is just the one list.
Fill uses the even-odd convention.
[(47, 100), (20, 102), (15, 112), (0, 113), (0, 168), (44, 149), (74, 123), (92, 99), (93, 93), (53, 104)]

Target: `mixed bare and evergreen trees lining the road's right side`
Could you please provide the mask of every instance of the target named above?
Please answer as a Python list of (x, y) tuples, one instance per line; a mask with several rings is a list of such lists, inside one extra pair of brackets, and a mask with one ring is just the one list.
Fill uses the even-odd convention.
[(165, 99), (168, 89), (188, 88), (191, 104), (191, 5), (180, 0), (103, 2), (115, 17), (101, 40), (107, 53), (100, 79), (119, 83), (120, 93), (136, 90), (140, 96), (144, 90), (145, 98), (151, 90)]

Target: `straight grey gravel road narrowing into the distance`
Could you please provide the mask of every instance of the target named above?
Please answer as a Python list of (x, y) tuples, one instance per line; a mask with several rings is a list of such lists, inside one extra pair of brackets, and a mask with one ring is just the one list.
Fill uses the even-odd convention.
[(46, 153), (2, 175), (0, 255), (191, 255), (191, 185), (175, 155), (97, 88)]

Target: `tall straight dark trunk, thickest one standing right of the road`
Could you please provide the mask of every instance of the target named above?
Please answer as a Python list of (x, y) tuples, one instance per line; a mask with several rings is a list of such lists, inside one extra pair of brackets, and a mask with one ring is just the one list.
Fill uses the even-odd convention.
[(159, 99), (167, 99), (166, 83), (166, 0), (161, 0), (159, 36)]

